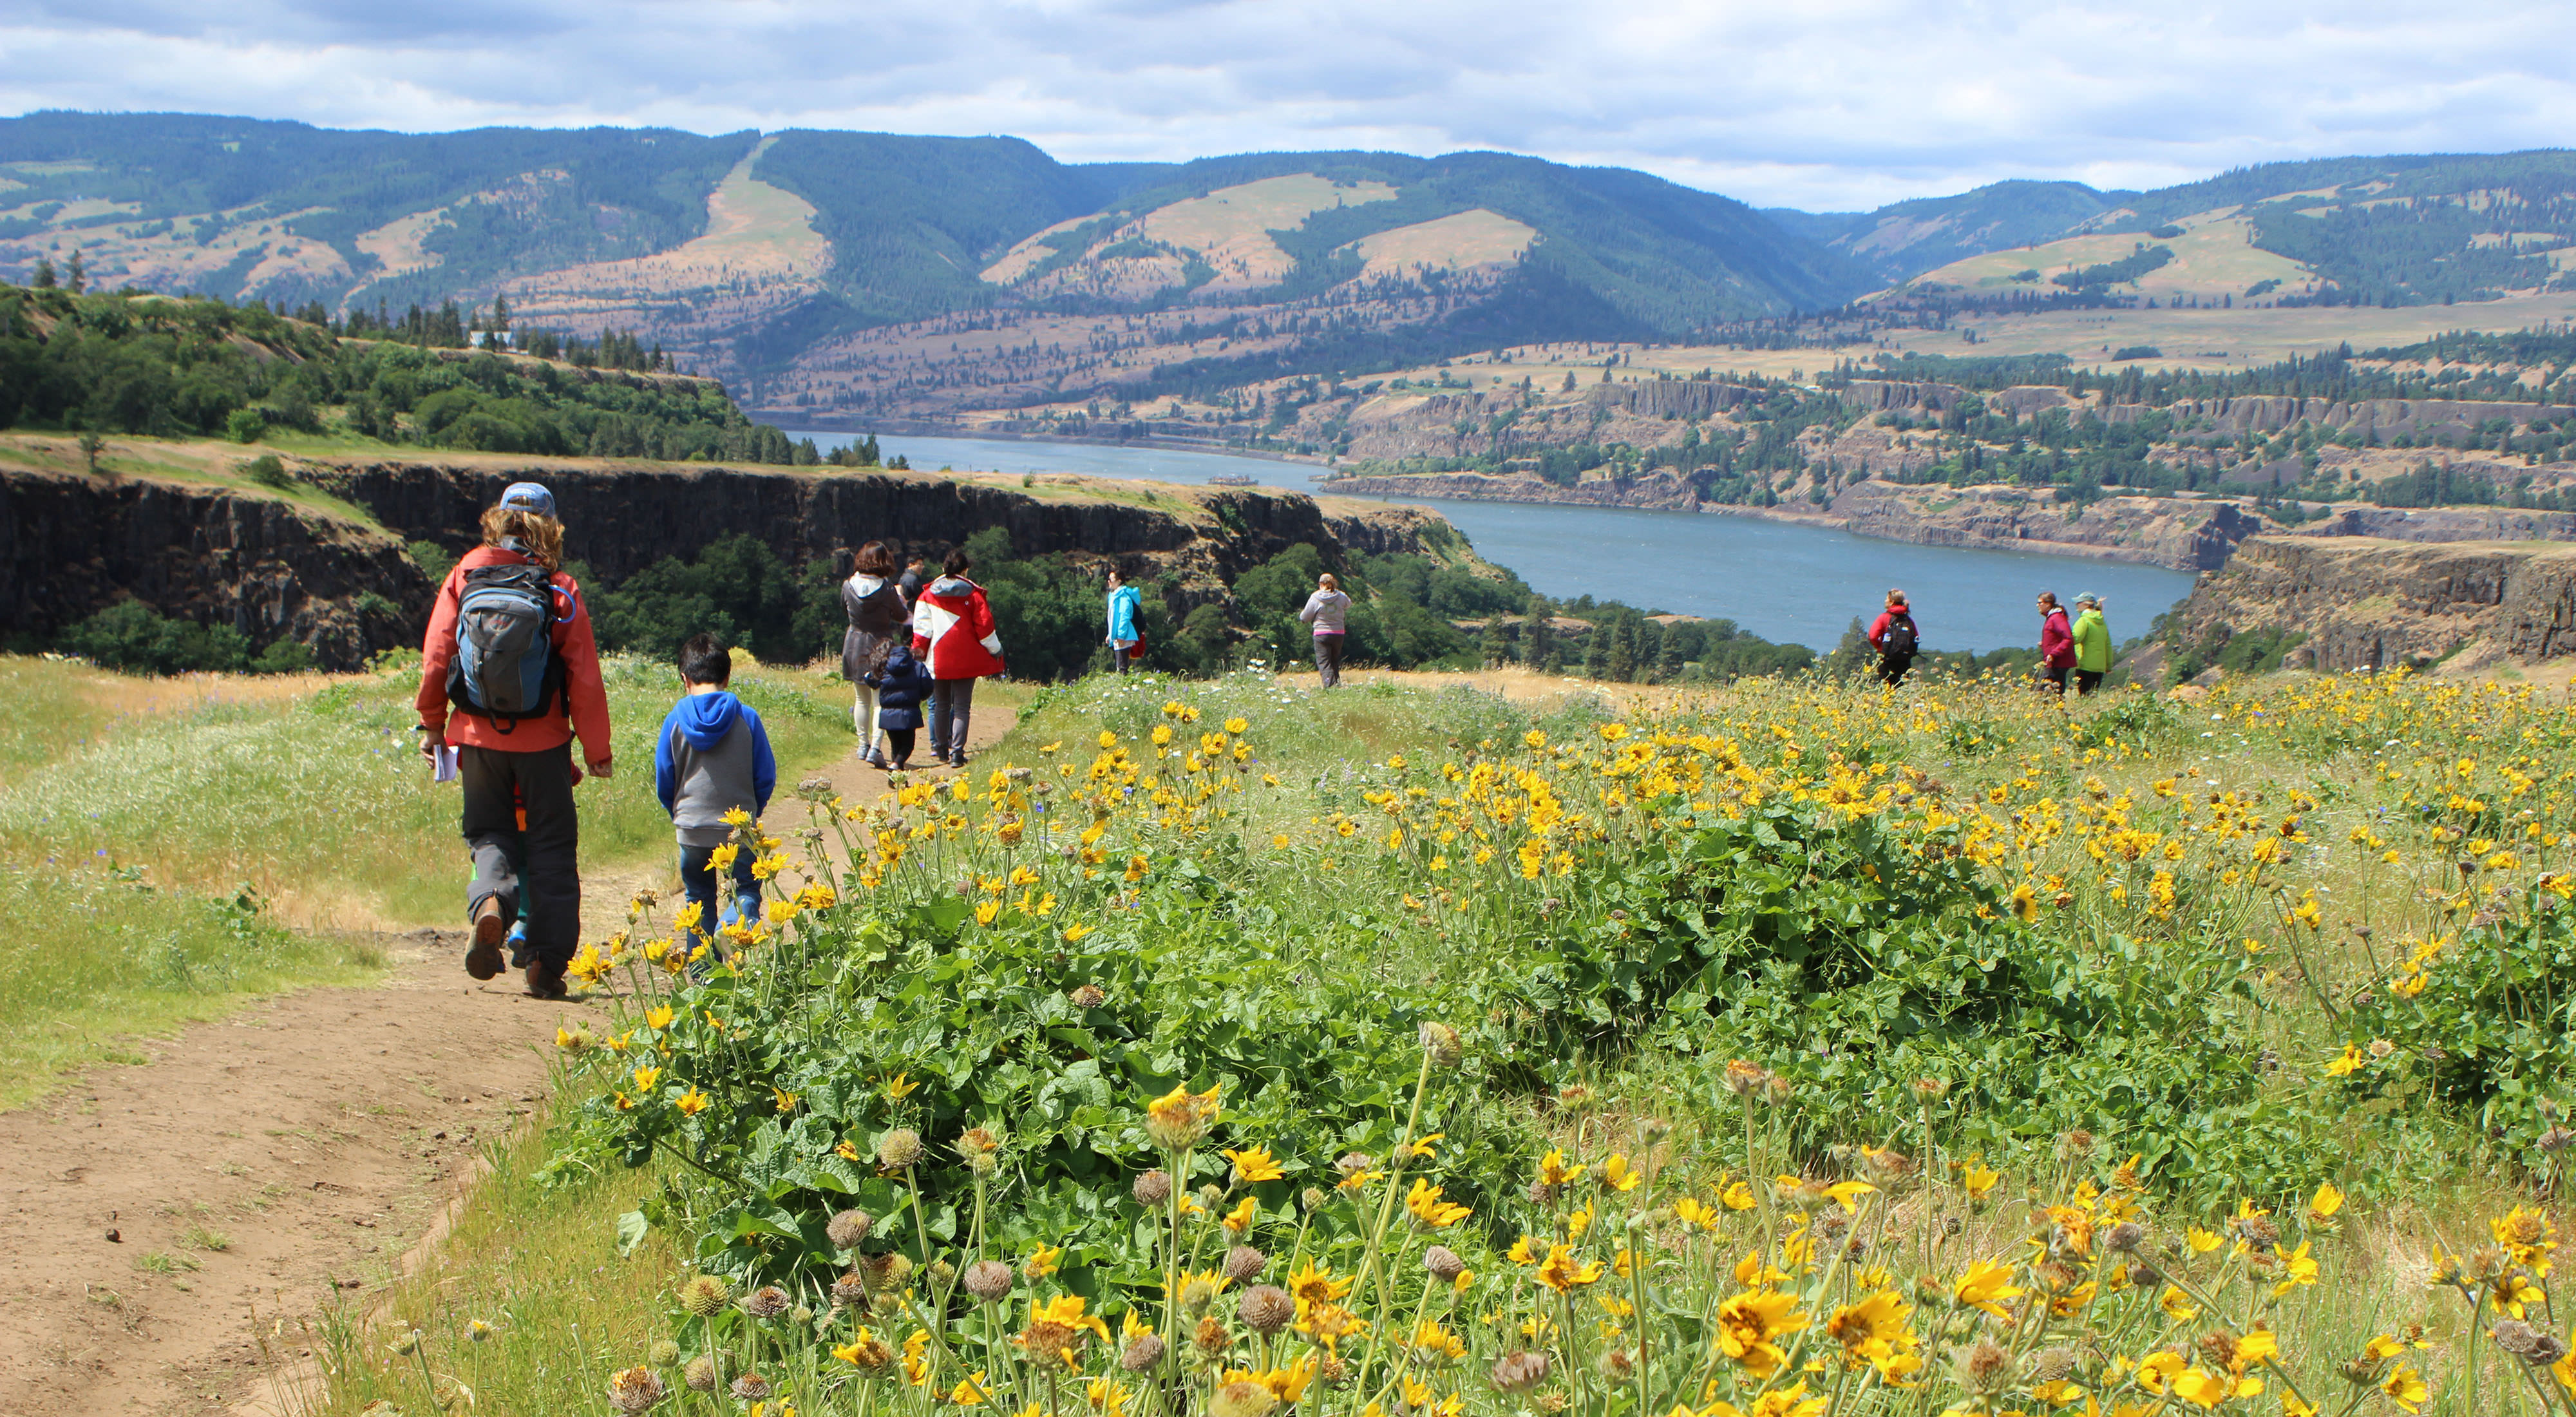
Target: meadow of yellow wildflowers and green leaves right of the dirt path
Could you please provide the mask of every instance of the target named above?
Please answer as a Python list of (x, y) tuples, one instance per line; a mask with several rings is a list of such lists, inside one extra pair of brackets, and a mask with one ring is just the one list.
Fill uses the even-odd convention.
[(2409, 675), (1046, 690), (574, 964), (513, 1185), (631, 1201), (644, 1317), (422, 1291), (330, 1409), (2576, 1412), (2571, 739)]

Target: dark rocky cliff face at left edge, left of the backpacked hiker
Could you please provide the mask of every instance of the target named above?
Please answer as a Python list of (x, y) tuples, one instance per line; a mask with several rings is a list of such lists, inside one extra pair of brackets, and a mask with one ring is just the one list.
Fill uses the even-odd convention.
[(0, 474), (0, 603), (44, 639), (137, 598), (327, 670), (417, 644), (435, 587), (402, 541), (283, 497), (167, 482)]

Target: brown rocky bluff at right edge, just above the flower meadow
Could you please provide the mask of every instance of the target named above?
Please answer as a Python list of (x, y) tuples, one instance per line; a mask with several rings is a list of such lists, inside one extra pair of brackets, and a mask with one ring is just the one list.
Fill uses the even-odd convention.
[(2303, 631), (2316, 670), (2576, 654), (2576, 546), (2257, 536), (2200, 577), (2166, 629), (2184, 644)]

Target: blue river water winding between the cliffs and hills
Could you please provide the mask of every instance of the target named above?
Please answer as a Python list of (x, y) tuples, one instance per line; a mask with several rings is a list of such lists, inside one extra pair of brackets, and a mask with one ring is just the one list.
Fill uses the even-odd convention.
[[(788, 433), (822, 448), (848, 446), (848, 433)], [(914, 469), (1079, 471), (1206, 482), (1234, 471), (1265, 487), (1316, 492), (1314, 464), (1118, 448), (1092, 443), (1005, 443), (981, 438), (878, 438), (886, 456)], [(2035, 556), (2025, 551), (1960, 551), (1875, 541), (1821, 526), (1790, 526), (1708, 513), (1638, 513), (1625, 508), (1551, 508), (1528, 502), (1453, 502), (1386, 497), (1437, 508), (1476, 544), (1543, 595), (1625, 600), (1646, 611), (1728, 618), (1762, 639), (1829, 649), (1842, 629), (1878, 613), (1888, 587), (1914, 603), (1927, 649), (2002, 649), (2038, 644), (2032, 600), (2056, 590), (2102, 598), (2112, 639), (2146, 634), (2148, 621), (2190, 595), (2192, 577), (2164, 567)]]

